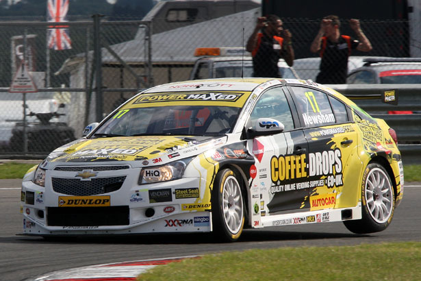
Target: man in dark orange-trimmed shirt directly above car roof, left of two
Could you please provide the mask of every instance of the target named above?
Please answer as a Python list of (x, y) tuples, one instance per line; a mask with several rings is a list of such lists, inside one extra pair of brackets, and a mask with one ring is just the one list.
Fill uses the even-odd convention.
[(288, 29), (283, 29), (283, 23), (278, 16), (271, 14), (267, 19), (264, 16), (257, 19), (256, 27), (246, 46), (246, 50), (251, 52), (253, 57), (254, 77), (281, 78), (279, 59), (283, 58), (289, 66), (294, 63), (291, 38), (291, 33)]

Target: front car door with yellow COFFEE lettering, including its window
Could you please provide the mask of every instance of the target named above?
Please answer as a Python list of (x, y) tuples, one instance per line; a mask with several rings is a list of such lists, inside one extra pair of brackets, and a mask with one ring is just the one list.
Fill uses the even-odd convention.
[(258, 136), (248, 140), (248, 151), (255, 156), (251, 183), (253, 210), (260, 215), (309, 208), (309, 190), (296, 182), (306, 176), (307, 140), (299, 127), (298, 115), (285, 87), (266, 90), (251, 112), (249, 124), (259, 118), (280, 121), (285, 129), (280, 134)]

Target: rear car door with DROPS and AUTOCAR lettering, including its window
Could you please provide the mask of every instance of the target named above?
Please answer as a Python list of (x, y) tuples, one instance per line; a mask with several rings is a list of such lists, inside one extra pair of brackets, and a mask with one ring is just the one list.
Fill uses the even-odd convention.
[[(350, 122), (350, 111), (339, 99), (307, 86), (291, 86), (308, 141), (307, 173), (310, 210), (337, 208), (342, 191), (354, 192), (358, 134)], [(346, 182), (350, 182), (348, 187)], [(357, 194), (353, 194), (353, 199)], [(351, 197), (351, 196), (350, 196)], [(346, 200), (346, 196), (342, 199)]]

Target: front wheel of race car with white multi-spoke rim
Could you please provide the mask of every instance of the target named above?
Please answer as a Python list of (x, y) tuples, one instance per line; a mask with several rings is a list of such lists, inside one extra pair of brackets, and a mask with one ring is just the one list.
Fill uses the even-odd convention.
[(218, 241), (236, 241), (242, 234), (244, 199), (240, 182), (230, 169), (216, 174), (212, 189), (212, 225)]

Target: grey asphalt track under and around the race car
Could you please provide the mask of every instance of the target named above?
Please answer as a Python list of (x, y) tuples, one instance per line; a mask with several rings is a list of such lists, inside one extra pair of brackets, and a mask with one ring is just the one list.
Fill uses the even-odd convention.
[(110, 262), (193, 256), (274, 247), (357, 245), (421, 241), (421, 183), (406, 183), (402, 204), (387, 230), (352, 234), (342, 223), (245, 230), (237, 243), (216, 243), (207, 234), (129, 236), (45, 241), (16, 236), (22, 228), (20, 180), (0, 180), (0, 280), (34, 280), (51, 271)]

